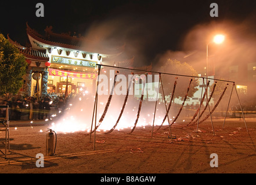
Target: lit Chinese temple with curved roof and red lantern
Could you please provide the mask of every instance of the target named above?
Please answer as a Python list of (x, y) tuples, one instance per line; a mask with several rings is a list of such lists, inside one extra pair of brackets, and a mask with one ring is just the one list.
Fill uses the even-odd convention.
[[(37, 94), (70, 95), (94, 92), (98, 68), (96, 64), (114, 65), (113, 60), (124, 46), (106, 48), (82, 36), (56, 34), (46, 27), (45, 35), (27, 24), (29, 47), (8, 39), (26, 57), (28, 68), (21, 92), (25, 96)], [(132, 66), (133, 58), (118, 61), (119, 66)]]

